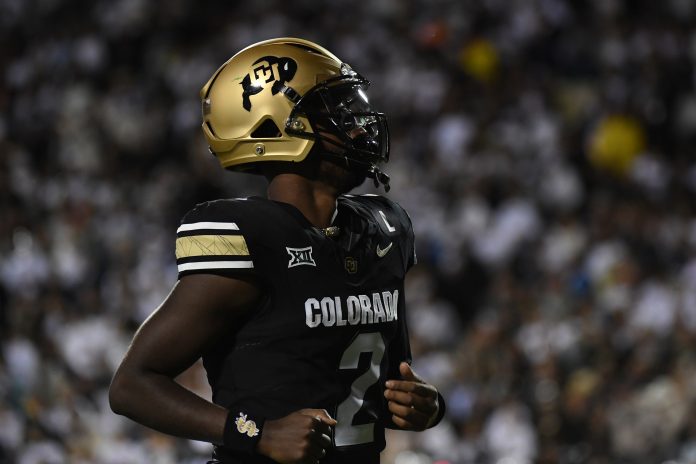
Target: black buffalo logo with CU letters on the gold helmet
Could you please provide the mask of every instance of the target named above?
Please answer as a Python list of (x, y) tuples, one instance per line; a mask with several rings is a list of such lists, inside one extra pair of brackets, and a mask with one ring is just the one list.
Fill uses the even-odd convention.
[[(262, 56), (252, 64), (253, 69), (244, 76), (240, 85), (244, 89), (242, 93), (242, 106), (251, 111), (251, 97), (261, 93), (266, 84), (273, 82), (271, 93), (280, 92), (286, 82), (291, 81), (297, 72), (297, 62), (292, 58), (277, 56)], [(275, 82), (274, 82), (275, 81)]]

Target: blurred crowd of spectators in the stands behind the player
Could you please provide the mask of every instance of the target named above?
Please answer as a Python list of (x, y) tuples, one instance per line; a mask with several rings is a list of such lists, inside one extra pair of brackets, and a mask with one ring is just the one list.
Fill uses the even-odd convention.
[(181, 216), (264, 194), (208, 154), (198, 90), (278, 36), (390, 117), (414, 366), (448, 412), (383, 461), (696, 463), (691, 0), (0, 0), (0, 463), (209, 456), (107, 389)]

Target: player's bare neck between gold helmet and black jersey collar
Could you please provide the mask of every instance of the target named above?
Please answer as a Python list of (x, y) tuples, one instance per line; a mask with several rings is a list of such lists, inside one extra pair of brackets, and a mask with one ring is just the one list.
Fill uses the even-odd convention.
[(331, 224), (338, 192), (331, 186), (297, 174), (278, 174), (268, 184), (268, 198), (293, 205), (315, 227)]

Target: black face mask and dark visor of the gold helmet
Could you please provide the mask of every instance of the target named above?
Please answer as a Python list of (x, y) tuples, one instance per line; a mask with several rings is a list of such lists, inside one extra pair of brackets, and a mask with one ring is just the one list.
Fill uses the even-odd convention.
[[(369, 85), (354, 74), (314, 86), (297, 100), (285, 129), (297, 137), (322, 140), (332, 148), (322, 155), (389, 190), (389, 176), (379, 168), (389, 161), (389, 130), (384, 114), (370, 106), (366, 94)], [(314, 132), (296, 124), (299, 117), (306, 118)]]

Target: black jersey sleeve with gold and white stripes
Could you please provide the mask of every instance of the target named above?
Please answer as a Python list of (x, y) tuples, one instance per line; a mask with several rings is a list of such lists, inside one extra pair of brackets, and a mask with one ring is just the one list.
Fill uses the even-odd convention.
[(202, 203), (184, 216), (176, 231), (179, 278), (254, 273), (254, 260), (238, 216), (230, 202)]

